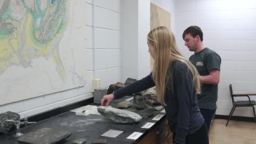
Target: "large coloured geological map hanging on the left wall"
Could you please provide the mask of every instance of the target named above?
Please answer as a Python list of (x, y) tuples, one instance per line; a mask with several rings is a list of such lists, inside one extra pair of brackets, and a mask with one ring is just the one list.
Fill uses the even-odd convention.
[(85, 84), (83, 0), (0, 0), (0, 105)]

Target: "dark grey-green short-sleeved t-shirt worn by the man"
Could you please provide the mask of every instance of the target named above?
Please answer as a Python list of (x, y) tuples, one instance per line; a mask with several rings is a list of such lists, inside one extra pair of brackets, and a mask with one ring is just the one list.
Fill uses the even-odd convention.
[[(212, 69), (221, 67), (221, 57), (209, 48), (190, 56), (189, 61), (197, 68), (201, 76), (209, 75)], [(218, 85), (203, 83), (201, 93), (197, 95), (198, 107), (205, 109), (216, 109), (218, 99)]]

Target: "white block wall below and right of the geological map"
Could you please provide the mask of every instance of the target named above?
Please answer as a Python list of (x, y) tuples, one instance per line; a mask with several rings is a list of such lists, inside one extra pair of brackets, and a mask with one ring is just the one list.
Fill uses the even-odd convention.
[[(87, 14), (84, 18), (87, 19), (85, 86), (1, 105), (0, 113), (12, 111), (19, 113), (21, 118), (24, 115), (29, 117), (91, 98), (93, 76), (101, 79), (102, 88), (107, 88), (110, 84), (121, 80), (120, 0), (95, 0), (95, 16), (93, 16), (93, 0), (84, 1), (85, 11), (81, 13)], [(95, 18), (95, 61), (93, 61), (93, 17)]]

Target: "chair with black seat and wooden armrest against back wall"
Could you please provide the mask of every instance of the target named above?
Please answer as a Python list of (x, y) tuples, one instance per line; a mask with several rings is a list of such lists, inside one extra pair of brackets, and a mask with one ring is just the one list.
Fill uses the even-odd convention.
[[(232, 117), (236, 107), (253, 107), (254, 121), (256, 123), (256, 115), (255, 115), (255, 108), (254, 108), (254, 105), (256, 105), (256, 101), (251, 101), (251, 99), (249, 97), (250, 93), (233, 94), (233, 89), (232, 89), (231, 84), (229, 85), (229, 92), (230, 92), (230, 96), (232, 98), (233, 107), (229, 113), (229, 117), (227, 118), (227, 124), (229, 123), (229, 120)], [(237, 96), (246, 96), (246, 97), (248, 97), (248, 101), (235, 101), (234, 97), (237, 97)], [(227, 124), (226, 124), (226, 126), (227, 126)]]

